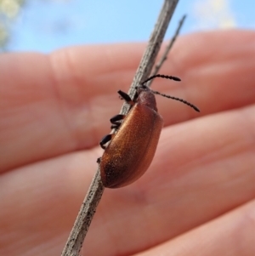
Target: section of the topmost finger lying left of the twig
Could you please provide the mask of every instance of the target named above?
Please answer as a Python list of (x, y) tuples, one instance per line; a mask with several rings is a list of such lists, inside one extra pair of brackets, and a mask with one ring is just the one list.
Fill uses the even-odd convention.
[[(133, 58), (116, 62), (122, 48)], [(119, 83), (128, 78), (129, 84), (143, 48), (112, 45), (63, 49), (51, 56), (2, 55), (0, 171), (98, 145), (116, 105), (122, 105)], [(109, 99), (110, 90), (114, 96)]]

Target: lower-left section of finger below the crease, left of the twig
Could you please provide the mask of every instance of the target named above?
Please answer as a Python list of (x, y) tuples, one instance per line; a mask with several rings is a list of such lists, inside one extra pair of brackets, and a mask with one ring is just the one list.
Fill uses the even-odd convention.
[(93, 177), (94, 158), (93, 152), (77, 152), (1, 175), (0, 255), (60, 255)]

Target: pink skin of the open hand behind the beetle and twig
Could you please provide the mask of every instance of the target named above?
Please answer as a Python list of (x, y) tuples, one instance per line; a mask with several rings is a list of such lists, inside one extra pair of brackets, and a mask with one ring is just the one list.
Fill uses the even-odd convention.
[[(145, 43), (0, 56), (0, 255), (59, 255)], [(138, 181), (105, 189), (83, 255), (255, 255), (255, 31), (179, 37), (152, 86), (164, 128)]]

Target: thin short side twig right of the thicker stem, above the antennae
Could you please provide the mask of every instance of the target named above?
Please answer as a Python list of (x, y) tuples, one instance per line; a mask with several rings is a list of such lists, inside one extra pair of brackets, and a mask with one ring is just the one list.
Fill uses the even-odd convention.
[[(165, 49), (165, 52), (162, 54), (161, 60), (159, 60), (159, 62), (155, 65), (154, 71), (150, 74), (150, 76), (156, 75), (157, 72), (160, 70), (161, 66), (163, 65), (163, 63), (167, 60), (167, 55), (168, 55), (170, 49), (173, 48), (173, 43), (175, 42), (176, 38), (178, 37), (178, 33), (179, 33), (181, 27), (183, 26), (185, 19), (186, 19), (186, 15), (184, 15), (183, 18), (179, 21), (177, 30), (175, 31), (170, 42), (167, 44), (167, 48)], [(150, 82), (147, 82), (147, 86), (150, 87), (151, 82), (153, 82), (153, 81), (151, 80)]]

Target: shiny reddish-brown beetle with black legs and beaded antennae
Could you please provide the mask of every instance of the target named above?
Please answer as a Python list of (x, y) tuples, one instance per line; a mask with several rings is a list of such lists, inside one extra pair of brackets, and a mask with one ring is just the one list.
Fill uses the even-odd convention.
[[(108, 188), (119, 188), (139, 179), (149, 168), (156, 152), (156, 146), (163, 127), (163, 119), (156, 108), (155, 94), (190, 105), (195, 111), (199, 109), (189, 102), (167, 94), (151, 90), (145, 85), (155, 77), (180, 81), (178, 77), (157, 74), (149, 77), (136, 88), (134, 100), (121, 90), (121, 98), (131, 105), (126, 116), (116, 115), (111, 118), (111, 128), (115, 134), (106, 135), (99, 145), (105, 150), (98, 159), (103, 185)], [(108, 144), (108, 146), (105, 146)]]

